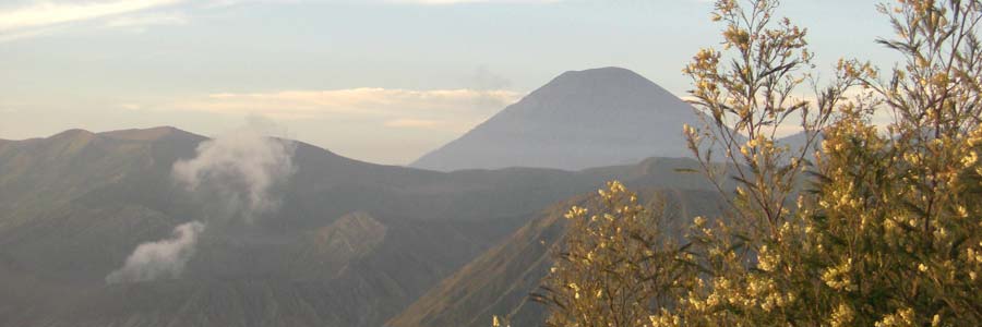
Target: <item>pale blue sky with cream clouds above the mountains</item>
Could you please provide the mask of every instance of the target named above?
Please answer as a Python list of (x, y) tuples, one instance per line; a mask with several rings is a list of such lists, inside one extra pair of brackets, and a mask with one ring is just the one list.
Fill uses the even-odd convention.
[[(785, 0), (830, 76), (890, 66), (877, 1)], [(0, 0), (0, 138), (254, 118), (405, 165), (564, 71), (622, 66), (685, 96), (707, 0)]]

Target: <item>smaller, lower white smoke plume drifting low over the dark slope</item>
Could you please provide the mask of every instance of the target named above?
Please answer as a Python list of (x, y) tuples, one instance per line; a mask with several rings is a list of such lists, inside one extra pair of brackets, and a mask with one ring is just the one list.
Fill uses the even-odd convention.
[(122, 268), (106, 276), (107, 283), (140, 282), (157, 278), (177, 278), (194, 255), (204, 223), (192, 221), (173, 228), (169, 239), (140, 244), (127, 257)]

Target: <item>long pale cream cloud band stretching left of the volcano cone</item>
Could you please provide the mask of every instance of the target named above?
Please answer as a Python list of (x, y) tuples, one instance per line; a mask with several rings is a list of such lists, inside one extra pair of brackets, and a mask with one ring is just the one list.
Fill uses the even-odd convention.
[(375, 121), (380, 126), (460, 129), (517, 101), (524, 94), (502, 89), (349, 88), (221, 93), (166, 106), (180, 110), (279, 120), (333, 118)]

